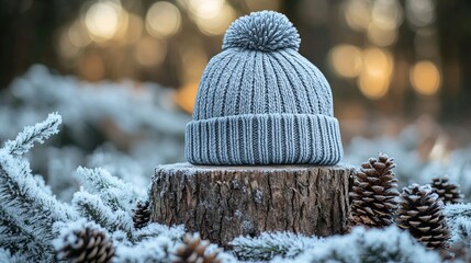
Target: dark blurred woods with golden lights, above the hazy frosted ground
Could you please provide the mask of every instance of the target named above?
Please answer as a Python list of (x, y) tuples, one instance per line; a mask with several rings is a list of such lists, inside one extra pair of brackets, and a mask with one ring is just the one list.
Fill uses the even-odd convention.
[[(193, 93), (236, 18), (271, 9), (300, 31), (300, 53), (330, 81), (337, 116), (468, 122), (467, 0), (0, 1), (0, 85), (32, 64), (82, 80), (152, 81)], [(373, 111), (371, 111), (373, 110)]]

